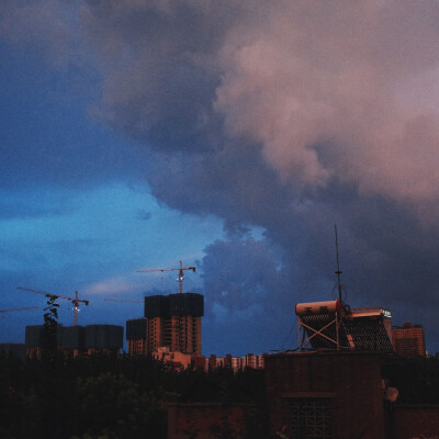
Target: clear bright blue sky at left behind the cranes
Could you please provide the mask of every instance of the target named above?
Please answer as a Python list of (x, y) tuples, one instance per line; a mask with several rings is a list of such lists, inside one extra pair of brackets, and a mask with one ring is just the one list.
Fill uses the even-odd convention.
[[(89, 115), (87, 93), (33, 54), (1, 48), (1, 308), (40, 306), (3, 313), (2, 341), (23, 341), (24, 325), (42, 323), (44, 296), (18, 285), (78, 290), (91, 302), (81, 324), (142, 316), (142, 305), (104, 299), (177, 292), (176, 273), (136, 270), (194, 264), (206, 243), (223, 237), (223, 222), (159, 203), (143, 176), (144, 156)], [(184, 288), (201, 289), (199, 273)], [(72, 324), (71, 306), (60, 305), (60, 320)]]

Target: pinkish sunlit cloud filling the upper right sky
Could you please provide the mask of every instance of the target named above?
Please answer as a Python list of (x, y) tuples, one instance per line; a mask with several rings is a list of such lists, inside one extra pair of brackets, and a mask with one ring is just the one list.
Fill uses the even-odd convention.
[[(439, 100), (426, 95), (437, 89), (439, 5), (336, 4), (280, 2), (230, 30), (216, 110), (294, 184), (336, 178), (362, 193), (437, 199)], [(419, 99), (407, 102), (408, 88)]]

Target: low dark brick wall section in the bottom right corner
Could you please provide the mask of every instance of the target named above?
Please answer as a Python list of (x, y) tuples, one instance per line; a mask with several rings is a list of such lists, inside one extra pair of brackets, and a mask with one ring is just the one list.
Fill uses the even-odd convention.
[(396, 406), (392, 426), (392, 439), (439, 439), (439, 405)]

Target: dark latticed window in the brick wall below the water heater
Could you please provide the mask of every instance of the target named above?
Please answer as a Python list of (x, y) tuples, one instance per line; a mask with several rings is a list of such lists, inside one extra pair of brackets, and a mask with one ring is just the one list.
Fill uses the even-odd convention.
[(330, 398), (291, 398), (291, 439), (334, 439)]

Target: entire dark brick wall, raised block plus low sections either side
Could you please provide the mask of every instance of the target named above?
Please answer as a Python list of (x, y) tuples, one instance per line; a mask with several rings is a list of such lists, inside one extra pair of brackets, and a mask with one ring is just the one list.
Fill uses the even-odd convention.
[(168, 438), (267, 439), (279, 431), (314, 437), (307, 431), (314, 416), (316, 428), (330, 430), (315, 437), (439, 439), (439, 405), (384, 401), (382, 359), (376, 352), (354, 351), (267, 356), (267, 409), (248, 404), (172, 405)]

